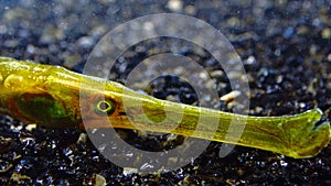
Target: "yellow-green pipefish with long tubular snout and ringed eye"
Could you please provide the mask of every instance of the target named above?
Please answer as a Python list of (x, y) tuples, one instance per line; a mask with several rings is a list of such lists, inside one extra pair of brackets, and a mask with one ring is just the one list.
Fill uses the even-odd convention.
[[(82, 89), (86, 94), (79, 103)], [(157, 123), (164, 118), (164, 105), (170, 108), (171, 114), (181, 117), (181, 120), (173, 121), (178, 124), (173, 130), (169, 130), (167, 123), (163, 127), (151, 122)], [(143, 107), (143, 112), (138, 109), (139, 106)], [(81, 114), (83, 111), (84, 118)], [(127, 114), (128, 111), (130, 114)], [(316, 156), (330, 141), (330, 123), (321, 121), (322, 112), (318, 108), (292, 116), (245, 118), (160, 100), (138, 94), (121, 84), (77, 74), (60, 66), (9, 57), (0, 57), (0, 113), (47, 128), (122, 128), (164, 132), (235, 143), (295, 158)], [(104, 122), (105, 117), (110, 125)], [(209, 135), (212, 129), (207, 120), (199, 120), (200, 117), (217, 119), (218, 125), (214, 135)], [(238, 141), (231, 138), (225, 140), (232, 119), (246, 119)], [(202, 122), (202, 128), (196, 132), (194, 130), (199, 121)], [(242, 127), (244, 123), (236, 124)], [(232, 132), (236, 134), (236, 131)]]

